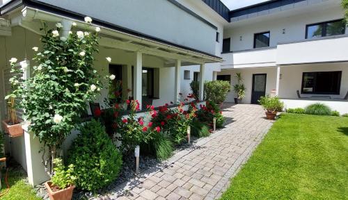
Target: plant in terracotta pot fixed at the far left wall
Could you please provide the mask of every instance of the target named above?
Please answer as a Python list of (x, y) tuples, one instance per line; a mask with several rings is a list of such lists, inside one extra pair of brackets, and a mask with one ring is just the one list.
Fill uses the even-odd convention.
[(15, 110), (15, 98), (8, 97), (8, 119), (2, 121), (3, 129), (11, 137), (18, 137), (23, 135), (23, 128), (21, 121), (17, 119)]

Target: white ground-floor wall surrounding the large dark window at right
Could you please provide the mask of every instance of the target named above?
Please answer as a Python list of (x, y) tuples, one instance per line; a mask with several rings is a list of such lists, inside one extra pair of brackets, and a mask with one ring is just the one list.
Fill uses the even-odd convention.
[[(301, 92), (303, 72), (342, 71), (340, 95), (330, 95), (331, 98), (343, 98), (348, 92), (348, 63), (322, 63), (313, 65), (289, 65), (280, 67), (279, 97), (297, 99), (296, 90)], [(301, 97), (316, 96), (301, 94)], [(322, 95), (319, 95), (322, 96)]]

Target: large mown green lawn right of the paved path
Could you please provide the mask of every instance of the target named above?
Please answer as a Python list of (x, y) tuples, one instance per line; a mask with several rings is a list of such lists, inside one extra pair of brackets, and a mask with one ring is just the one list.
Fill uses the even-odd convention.
[(348, 199), (348, 117), (282, 115), (221, 199)]

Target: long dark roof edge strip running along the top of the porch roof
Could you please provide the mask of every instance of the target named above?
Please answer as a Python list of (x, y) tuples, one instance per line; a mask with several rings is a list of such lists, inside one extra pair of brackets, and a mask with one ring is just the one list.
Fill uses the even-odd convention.
[[(17, 3), (16, 3), (17, 1), (10, 1), (10, 2), (11, 3), (6, 3), (6, 6), (0, 7), (1, 15), (6, 14), (6, 12), (10, 12), (10, 10), (14, 10), (15, 8), (17, 8), (19, 6), (29, 6), (31, 8), (37, 8), (39, 10), (43, 10), (43, 11), (46, 11), (46, 12), (51, 12), (51, 13), (56, 14), (56, 15), (63, 15), (65, 17), (69, 17), (69, 18), (72, 18), (72, 19), (77, 19), (79, 21), (84, 21), (84, 17), (86, 17), (85, 15), (82, 15), (80, 13), (72, 12), (70, 10), (65, 10), (63, 8), (59, 8), (57, 6), (53, 6), (53, 5), (47, 4), (47, 3), (42, 3), (42, 2), (36, 1), (36, 0), (22, 0), (19, 5), (17, 5)], [(3, 7), (6, 8), (6, 12), (4, 12), (4, 13), (2, 13)], [(210, 56), (210, 57), (222, 59), (221, 57), (216, 56), (216, 55), (214, 55), (212, 53), (207, 53), (205, 51), (200, 51), (198, 49), (193, 49), (191, 47), (186, 47), (186, 46), (183, 46), (183, 45), (180, 45), (180, 44), (175, 44), (173, 42), (169, 42), (169, 41), (163, 40), (161, 38), (156, 38), (156, 37), (154, 37), (152, 35), (147, 35), (147, 34), (144, 34), (144, 33), (140, 33), (138, 31), (134, 31), (134, 30), (129, 29), (129, 28), (118, 26), (116, 24), (111, 24), (109, 22), (105, 22), (105, 21), (100, 20), (100, 19), (93, 18), (93, 24), (96, 24), (96, 25), (99, 25), (99, 26), (104, 26), (106, 28), (111, 28), (111, 29), (113, 29), (115, 31), (120, 31), (122, 33), (127, 33), (129, 35), (134, 35), (134, 36), (145, 38), (145, 39), (148, 39), (148, 40), (153, 40), (155, 42), (160, 42), (160, 43), (163, 43), (163, 44), (171, 45), (173, 47), (177, 47), (177, 48), (180, 48), (180, 49), (187, 49), (189, 51), (193, 51), (193, 52), (196, 52), (196, 53), (204, 54), (205, 56)]]

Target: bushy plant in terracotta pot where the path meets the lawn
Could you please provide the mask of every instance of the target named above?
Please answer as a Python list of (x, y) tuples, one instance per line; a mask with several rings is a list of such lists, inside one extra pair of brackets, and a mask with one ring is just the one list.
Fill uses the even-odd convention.
[(283, 110), (284, 103), (278, 97), (261, 97), (258, 102), (266, 110), (267, 119), (275, 119), (278, 111)]

